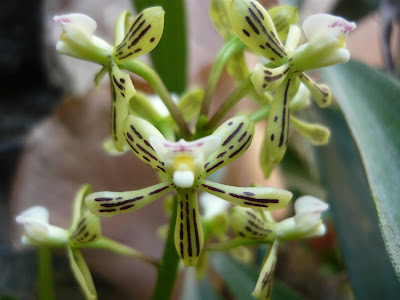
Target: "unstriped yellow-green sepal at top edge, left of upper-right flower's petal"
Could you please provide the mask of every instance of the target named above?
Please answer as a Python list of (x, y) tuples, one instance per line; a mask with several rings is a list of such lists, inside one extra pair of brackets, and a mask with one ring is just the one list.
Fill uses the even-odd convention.
[(235, 35), (229, 20), (228, 8), (229, 0), (211, 0), (209, 9), (211, 22), (225, 42)]

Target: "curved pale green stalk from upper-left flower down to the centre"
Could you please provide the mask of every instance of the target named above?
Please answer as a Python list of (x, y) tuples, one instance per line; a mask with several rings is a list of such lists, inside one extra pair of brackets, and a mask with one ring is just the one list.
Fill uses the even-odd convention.
[(182, 113), (172, 100), (171, 95), (169, 94), (157, 72), (149, 65), (138, 59), (133, 59), (126, 63), (120, 64), (119, 67), (143, 77), (143, 79), (145, 79), (153, 87), (154, 91), (160, 96), (161, 100), (163, 100), (165, 106), (169, 110), (169, 113), (178, 125), (180, 135), (184, 139), (190, 140), (191, 133), (185, 120), (183, 119)]

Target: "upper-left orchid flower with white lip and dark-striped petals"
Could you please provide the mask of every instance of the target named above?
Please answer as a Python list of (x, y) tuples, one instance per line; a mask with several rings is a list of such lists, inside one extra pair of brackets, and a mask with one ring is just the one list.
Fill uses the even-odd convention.
[(153, 50), (164, 30), (164, 10), (157, 6), (143, 10), (132, 21), (128, 11), (122, 12), (116, 21), (114, 47), (93, 36), (96, 22), (83, 14), (56, 16), (63, 33), (57, 43), (57, 51), (78, 59), (103, 65), (95, 77), (97, 86), (108, 72), (111, 82), (111, 139), (114, 147), (110, 152), (123, 152), (126, 145), (122, 125), (128, 116), (129, 100), (136, 90), (130, 76), (122, 72), (118, 64), (125, 63)]

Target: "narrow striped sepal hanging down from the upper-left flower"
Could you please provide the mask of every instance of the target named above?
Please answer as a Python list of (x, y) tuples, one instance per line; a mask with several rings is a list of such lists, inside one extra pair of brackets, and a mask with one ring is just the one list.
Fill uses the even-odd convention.
[(122, 72), (116, 63), (111, 62), (111, 138), (114, 147), (123, 151), (125, 137), (123, 123), (128, 116), (129, 99), (135, 95), (136, 90), (129, 74)]

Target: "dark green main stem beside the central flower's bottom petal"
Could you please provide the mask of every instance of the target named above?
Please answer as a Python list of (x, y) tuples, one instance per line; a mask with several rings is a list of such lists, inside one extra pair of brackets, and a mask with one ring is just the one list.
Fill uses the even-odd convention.
[(174, 288), (176, 276), (178, 274), (178, 264), (180, 257), (175, 249), (175, 220), (178, 209), (178, 200), (175, 198), (172, 216), (169, 223), (167, 242), (162, 257), (162, 265), (158, 269), (158, 277), (154, 289), (153, 300), (168, 300)]

